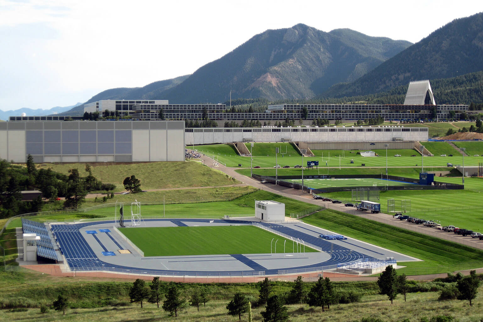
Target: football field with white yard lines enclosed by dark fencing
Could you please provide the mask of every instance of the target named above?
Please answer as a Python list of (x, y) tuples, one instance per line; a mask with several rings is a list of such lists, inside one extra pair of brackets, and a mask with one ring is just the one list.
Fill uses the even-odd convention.
[[(302, 183), (302, 179), (284, 180), (294, 183)], [(411, 182), (374, 179), (374, 178), (339, 178), (339, 179), (304, 179), (305, 186), (313, 189), (328, 188), (328, 187), (371, 187), (371, 186), (385, 186), (385, 185), (407, 185), (414, 184)]]

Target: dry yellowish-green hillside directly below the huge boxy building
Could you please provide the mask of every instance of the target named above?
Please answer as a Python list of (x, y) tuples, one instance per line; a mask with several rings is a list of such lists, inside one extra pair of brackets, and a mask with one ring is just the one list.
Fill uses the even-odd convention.
[[(141, 180), (141, 188), (163, 189), (184, 187), (210, 187), (229, 185), (234, 182), (224, 173), (212, 170), (196, 161), (146, 162), (131, 164), (91, 163), (92, 174), (101, 182), (114, 183), (115, 191), (124, 191), (124, 178), (135, 175)], [(69, 174), (69, 169), (78, 168), (81, 176), (87, 176), (85, 163), (42, 163), (42, 168)]]

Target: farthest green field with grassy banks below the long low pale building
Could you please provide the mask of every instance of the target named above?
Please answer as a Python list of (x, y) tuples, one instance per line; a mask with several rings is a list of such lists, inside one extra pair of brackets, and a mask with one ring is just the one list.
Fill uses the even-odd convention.
[[(463, 163), (463, 157), (452, 146), (446, 142), (423, 142), (427, 145), (428, 150), (435, 154), (434, 156), (424, 157), (424, 166), (427, 168), (444, 167), (447, 163), (455, 165)], [(444, 144), (433, 144), (444, 143)], [(258, 148), (258, 146), (261, 146)], [(281, 148), (282, 152), (287, 151), (286, 154), (278, 154), (275, 162), (275, 148)], [(195, 149), (203, 154), (209, 155), (218, 162), (226, 164), (228, 167), (238, 167), (241, 164), (242, 168), (250, 168), (250, 157), (240, 156), (235, 153), (233, 148), (227, 144), (211, 144), (211, 145), (197, 145)], [(271, 152), (270, 152), (271, 151)], [(291, 152), (294, 153), (291, 153)], [(313, 150), (313, 157), (304, 157), (303, 164), (306, 166), (307, 161), (319, 161), (319, 168), (315, 169), (320, 174), (327, 171), (327, 167), (361, 167), (365, 164), (366, 167), (385, 167), (386, 166), (386, 151), (373, 150), (379, 156), (361, 156), (357, 154), (361, 150)], [(366, 150), (363, 150), (366, 151)], [(421, 166), (421, 154), (416, 150), (387, 150), (387, 166), (388, 167), (416, 167)], [(400, 154), (401, 156), (394, 156)], [(454, 156), (440, 156), (440, 154), (453, 154)], [(415, 156), (411, 156), (415, 155)], [(351, 163), (351, 160), (354, 163)], [(478, 162), (483, 159), (478, 156), (465, 157), (465, 165), (476, 166)], [(302, 156), (298, 154), (289, 143), (259, 143), (256, 142), (253, 147), (253, 167), (273, 168), (275, 164), (281, 167), (295, 165), (302, 165)], [(300, 170), (301, 171), (301, 170)]]

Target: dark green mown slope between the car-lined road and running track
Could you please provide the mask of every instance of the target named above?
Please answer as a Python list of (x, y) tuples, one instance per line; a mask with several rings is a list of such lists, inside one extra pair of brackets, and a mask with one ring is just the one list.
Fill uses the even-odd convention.
[(447, 273), (483, 265), (481, 250), (336, 210), (322, 210), (302, 221), (424, 261), (398, 262), (399, 266), (407, 266), (398, 269), (398, 274)]

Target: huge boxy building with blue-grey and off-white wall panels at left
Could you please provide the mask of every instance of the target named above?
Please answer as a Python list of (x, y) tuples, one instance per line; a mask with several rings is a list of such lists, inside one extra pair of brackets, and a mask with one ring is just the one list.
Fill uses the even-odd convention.
[(0, 123), (0, 157), (35, 162), (185, 160), (183, 121)]

